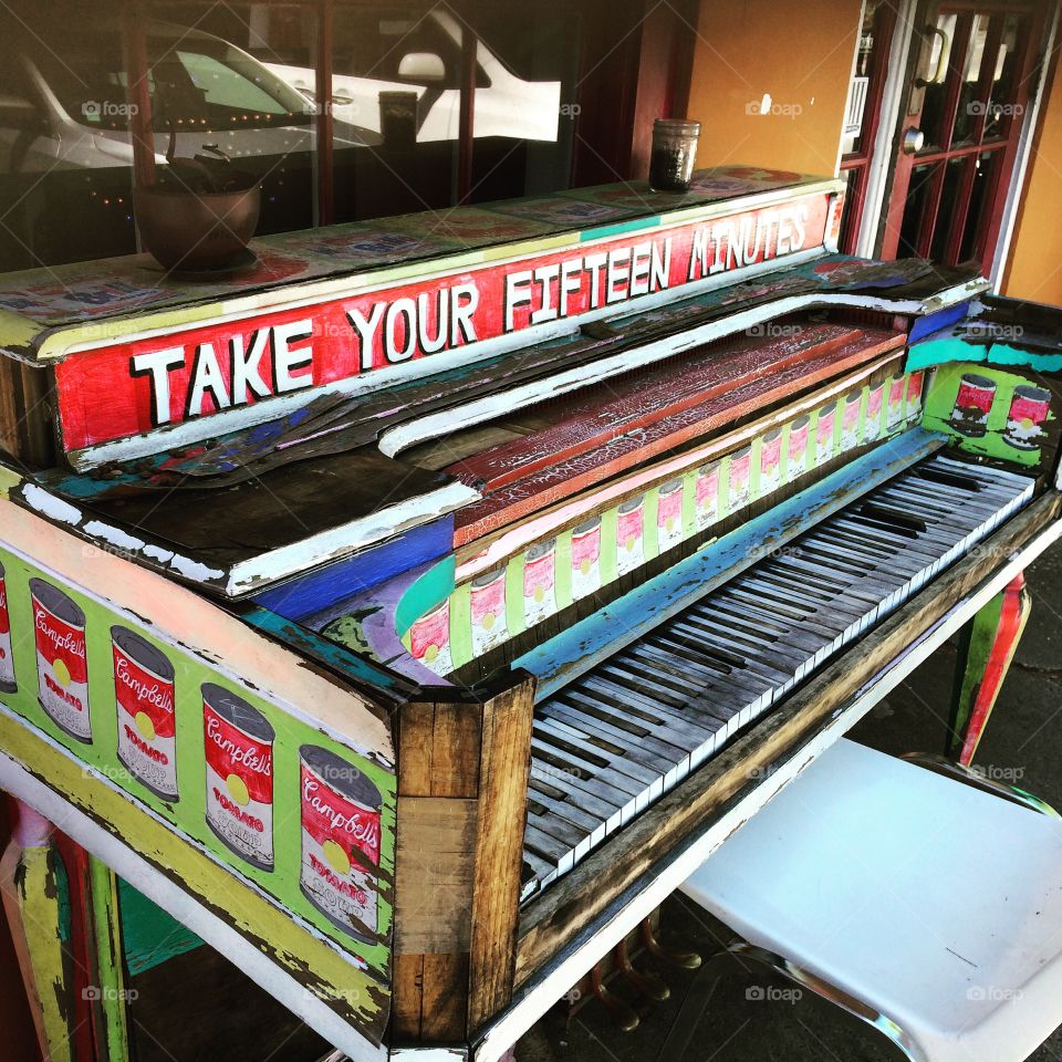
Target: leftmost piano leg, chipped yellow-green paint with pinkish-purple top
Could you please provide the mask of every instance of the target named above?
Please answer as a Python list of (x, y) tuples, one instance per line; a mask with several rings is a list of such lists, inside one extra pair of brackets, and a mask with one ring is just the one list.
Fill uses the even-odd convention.
[(11, 927), (22, 982), (33, 1013), (41, 1054), (50, 1062), (74, 1062), (72, 1019), (73, 956), (64, 946), (67, 895), (53, 826), (32, 808), (18, 802), (19, 821), (0, 858), (0, 892)]

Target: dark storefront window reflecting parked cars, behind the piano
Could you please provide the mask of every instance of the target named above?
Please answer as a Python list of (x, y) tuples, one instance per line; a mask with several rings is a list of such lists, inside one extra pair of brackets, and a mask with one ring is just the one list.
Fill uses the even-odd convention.
[(136, 40), (118, 2), (0, 7), (0, 271), (135, 252), (168, 153), (253, 174), (264, 235), (563, 189), (615, 138), (580, 128), (597, 0), (145, 0)]

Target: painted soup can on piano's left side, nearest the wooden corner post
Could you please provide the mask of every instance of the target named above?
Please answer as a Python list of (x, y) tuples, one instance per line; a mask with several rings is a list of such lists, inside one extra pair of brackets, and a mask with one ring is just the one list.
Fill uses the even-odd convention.
[(299, 750), (302, 779), (302, 876), (305, 897), (360, 940), (376, 939), (379, 790), (327, 749)]

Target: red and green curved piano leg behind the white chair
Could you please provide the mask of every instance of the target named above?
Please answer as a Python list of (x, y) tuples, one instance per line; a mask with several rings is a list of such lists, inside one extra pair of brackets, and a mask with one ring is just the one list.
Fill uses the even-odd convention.
[(962, 634), (948, 756), (969, 767), (1029, 618), (1031, 600), (1019, 573)]

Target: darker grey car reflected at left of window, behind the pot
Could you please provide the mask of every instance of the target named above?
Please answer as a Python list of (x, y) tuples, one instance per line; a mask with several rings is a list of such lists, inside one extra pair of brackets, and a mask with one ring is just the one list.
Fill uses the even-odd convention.
[[(28, 33), (13, 55), (11, 43), (2, 48), (4, 81), (20, 91), (0, 94), (0, 171), (131, 166), (119, 34), (93, 29), (45, 43)], [(312, 150), (312, 105), (235, 44), (152, 22), (147, 52), (158, 163), (165, 162), (170, 123), (178, 156), (223, 154), (259, 176), (284, 156)], [(372, 131), (343, 122), (335, 136), (354, 146), (379, 142)]]

